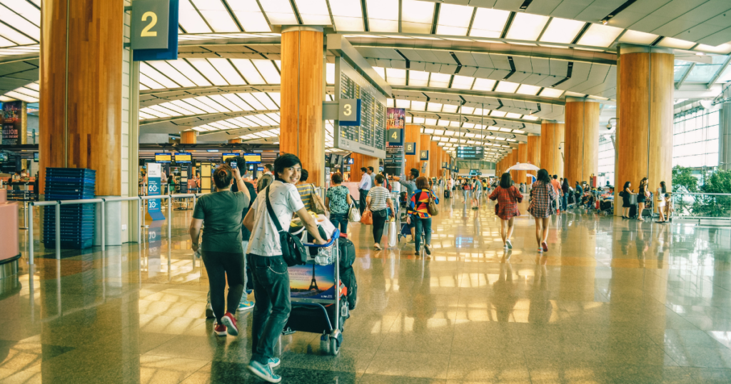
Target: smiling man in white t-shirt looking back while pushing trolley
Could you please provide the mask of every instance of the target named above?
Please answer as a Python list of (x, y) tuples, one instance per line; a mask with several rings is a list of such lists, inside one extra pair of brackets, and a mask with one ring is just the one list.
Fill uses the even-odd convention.
[[(273, 168), (274, 181), (259, 192), (243, 219), (243, 225), (251, 231), (246, 253), (256, 299), (251, 327), (252, 355), (247, 368), (262, 380), (279, 383), (281, 376), (272, 371), (279, 365), (279, 358), (274, 357), (274, 346), (287, 324), (292, 304), (289, 301), (287, 263), (282, 257), (279, 232), (272, 216), (282, 228), (289, 228), (292, 215), (297, 214), (315, 244), (326, 244), (326, 241), (319, 236), (317, 222), (308, 214), (294, 185), (300, 179), (300, 159), (294, 154), (283, 154), (274, 160)], [(272, 208), (273, 215), (269, 213), (268, 206)]]

